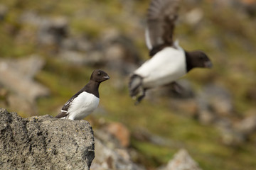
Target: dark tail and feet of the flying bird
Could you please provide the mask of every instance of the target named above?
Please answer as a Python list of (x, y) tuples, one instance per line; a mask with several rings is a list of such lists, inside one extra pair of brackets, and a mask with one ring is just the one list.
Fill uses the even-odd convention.
[(129, 94), (134, 100), (137, 100), (136, 104), (142, 101), (142, 98), (145, 96), (145, 89), (142, 86), (142, 77), (137, 74), (132, 74), (129, 78)]

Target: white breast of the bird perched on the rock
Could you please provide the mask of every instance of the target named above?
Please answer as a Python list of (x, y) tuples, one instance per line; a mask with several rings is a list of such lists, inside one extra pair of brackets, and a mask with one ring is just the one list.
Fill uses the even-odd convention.
[(68, 108), (67, 118), (81, 120), (92, 113), (99, 105), (99, 102), (100, 98), (84, 91), (72, 101), (70, 108)]

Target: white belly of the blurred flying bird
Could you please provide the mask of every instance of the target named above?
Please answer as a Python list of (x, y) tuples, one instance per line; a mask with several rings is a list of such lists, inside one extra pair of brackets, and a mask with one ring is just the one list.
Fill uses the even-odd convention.
[(185, 52), (181, 48), (165, 47), (144, 62), (135, 74), (144, 78), (145, 88), (169, 84), (186, 74)]

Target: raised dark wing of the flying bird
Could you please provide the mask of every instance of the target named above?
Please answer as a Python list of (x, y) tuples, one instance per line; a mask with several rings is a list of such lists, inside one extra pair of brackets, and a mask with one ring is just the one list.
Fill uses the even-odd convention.
[(146, 45), (150, 56), (174, 44), (173, 34), (178, 18), (179, 0), (152, 0), (147, 14)]

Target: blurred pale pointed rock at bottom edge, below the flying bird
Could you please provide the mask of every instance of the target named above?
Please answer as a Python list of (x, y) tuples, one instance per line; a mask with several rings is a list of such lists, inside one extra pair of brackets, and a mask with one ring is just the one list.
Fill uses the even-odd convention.
[(166, 166), (158, 170), (201, 170), (185, 149), (180, 149)]

